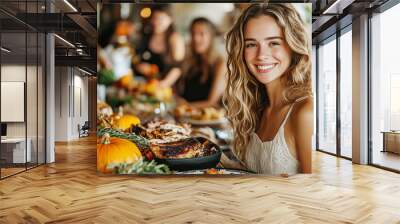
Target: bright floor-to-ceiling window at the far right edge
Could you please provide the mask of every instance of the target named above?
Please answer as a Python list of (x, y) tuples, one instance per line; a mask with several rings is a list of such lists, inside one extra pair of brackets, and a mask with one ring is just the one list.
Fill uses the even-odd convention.
[[(372, 163), (400, 170), (400, 4), (371, 19)], [(389, 147), (390, 146), (390, 147)], [(400, 153), (400, 150), (399, 150)]]

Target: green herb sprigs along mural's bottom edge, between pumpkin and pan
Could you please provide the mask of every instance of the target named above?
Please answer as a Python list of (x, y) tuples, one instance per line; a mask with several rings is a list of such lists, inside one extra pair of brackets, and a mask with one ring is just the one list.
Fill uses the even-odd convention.
[(143, 158), (135, 163), (109, 164), (115, 174), (171, 174), (171, 170), (165, 164), (157, 164), (154, 160), (144, 161)]

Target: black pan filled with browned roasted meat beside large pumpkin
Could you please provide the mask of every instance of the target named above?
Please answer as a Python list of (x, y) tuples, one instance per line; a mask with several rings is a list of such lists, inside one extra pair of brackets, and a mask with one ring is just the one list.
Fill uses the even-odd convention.
[(158, 163), (176, 171), (215, 168), (221, 160), (218, 145), (203, 137), (152, 144), (150, 148)]

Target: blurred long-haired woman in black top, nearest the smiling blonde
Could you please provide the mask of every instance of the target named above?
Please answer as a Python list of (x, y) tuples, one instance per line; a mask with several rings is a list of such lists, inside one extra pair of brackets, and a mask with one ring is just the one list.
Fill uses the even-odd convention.
[(200, 17), (192, 21), (190, 32), (190, 54), (184, 63), (180, 95), (197, 108), (218, 106), (226, 86), (226, 65), (214, 47), (217, 29)]

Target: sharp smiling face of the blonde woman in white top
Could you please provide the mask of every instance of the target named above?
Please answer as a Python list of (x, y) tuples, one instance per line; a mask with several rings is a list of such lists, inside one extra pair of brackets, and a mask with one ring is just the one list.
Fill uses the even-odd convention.
[(246, 65), (261, 83), (274, 81), (289, 68), (292, 51), (274, 18), (264, 15), (250, 19), (244, 28), (244, 40)]

